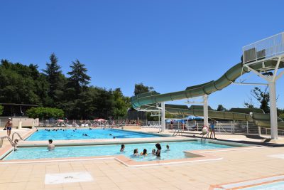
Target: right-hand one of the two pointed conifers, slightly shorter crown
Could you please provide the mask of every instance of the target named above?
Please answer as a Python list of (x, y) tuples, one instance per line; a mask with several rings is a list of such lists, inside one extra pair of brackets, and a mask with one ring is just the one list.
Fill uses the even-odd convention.
[(87, 90), (87, 85), (89, 85), (91, 80), (91, 77), (87, 75), (87, 68), (84, 66), (79, 60), (75, 60), (70, 65), (72, 70), (67, 73), (70, 75), (70, 78), (68, 78), (69, 87), (74, 88), (77, 94)]

